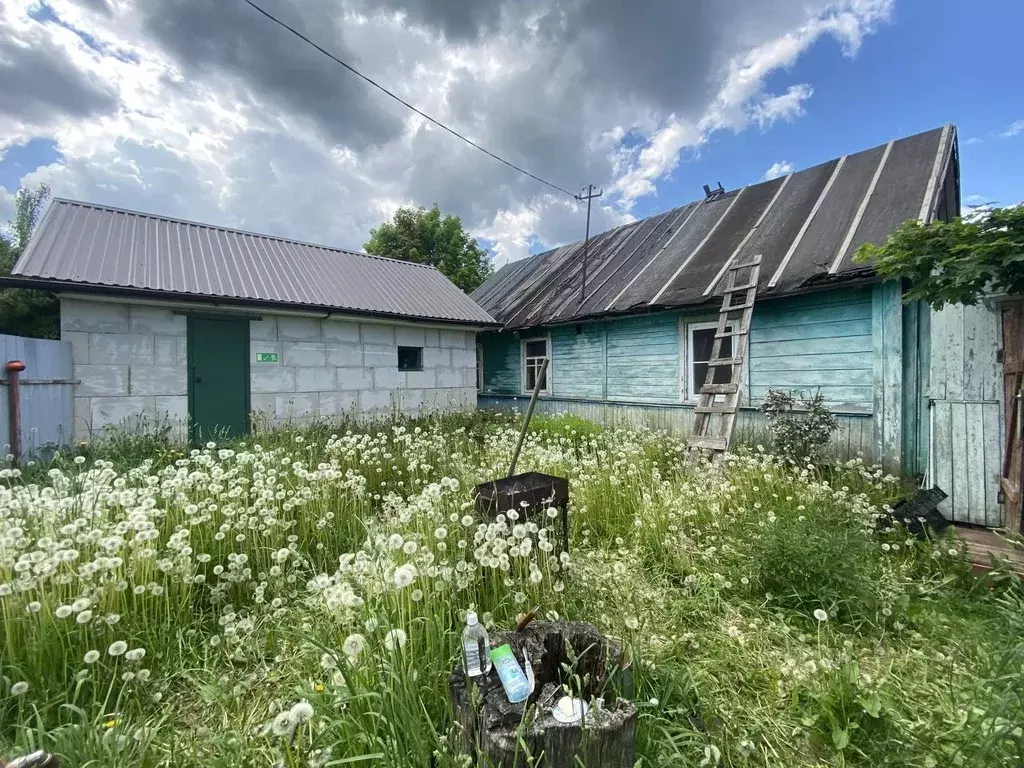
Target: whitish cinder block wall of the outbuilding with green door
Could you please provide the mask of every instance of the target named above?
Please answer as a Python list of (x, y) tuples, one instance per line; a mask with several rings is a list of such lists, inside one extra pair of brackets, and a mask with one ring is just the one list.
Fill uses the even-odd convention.
[[(250, 323), (250, 401), (265, 422), (476, 407), (472, 331), (260, 314)], [(184, 314), (66, 298), (60, 328), (79, 382), (77, 439), (105, 427), (158, 422), (185, 437)], [(399, 345), (423, 347), (422, 371), (398, 371)], [(260, 352), (276, 353), (278, 361), (257, 362)]]

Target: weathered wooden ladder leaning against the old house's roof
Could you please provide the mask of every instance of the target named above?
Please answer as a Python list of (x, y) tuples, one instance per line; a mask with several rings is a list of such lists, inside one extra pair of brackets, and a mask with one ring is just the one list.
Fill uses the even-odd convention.
[[(741, 272), (744, 274), (740, 274)], [(726, 272), (725, 295), (722, 297), (718, 329), (715, 331), (711, 359), (708, 361), (708, 375), (700, 387), (697, 407), (693, 409), (693, 431), (687, 441), (687, 447), (710, 451), (713, 459), (721, 458), (732, 439), (732, 428), (739, 410), (739, 384), (746, 357), (746, 340), (760, 276), (760, 254), (750, 261), (730, 264)], [(725, 339), (732, 340), (728, 357), (722, 355), (722, 342)], [(716, 384), (716, 372), (724, 367), (730, 370), (729, 381)], [(724, 396), (724, 402), (716, 402), (719, 396)]]

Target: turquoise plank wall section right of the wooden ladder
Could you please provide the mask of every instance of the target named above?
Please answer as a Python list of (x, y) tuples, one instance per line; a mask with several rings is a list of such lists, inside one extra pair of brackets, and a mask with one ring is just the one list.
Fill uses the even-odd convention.
[(818, 388), (838, 411), (870, 413), (871, 290), (843, 289), (760, 302), (751, 325), (750, 391)]

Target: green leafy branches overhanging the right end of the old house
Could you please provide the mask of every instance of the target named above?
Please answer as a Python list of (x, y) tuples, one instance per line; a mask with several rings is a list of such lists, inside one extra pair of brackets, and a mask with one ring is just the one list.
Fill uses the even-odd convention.
[(906, 221), (885, 245), (861, 246), (855, 260), (908, 281), (903, 300), (936, 309), (990, 293), (1024, 294), (1024, 206), (924, 225)]

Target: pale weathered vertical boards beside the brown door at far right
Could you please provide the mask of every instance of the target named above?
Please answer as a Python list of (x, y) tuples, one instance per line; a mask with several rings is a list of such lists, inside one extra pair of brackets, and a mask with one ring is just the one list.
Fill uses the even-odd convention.
[(986, 302), (931, 315), (930, 474), (949, 495), (939, 509), (956, 522), (990, 527), (1002, 524), (1000, 328), (997, 308)]

